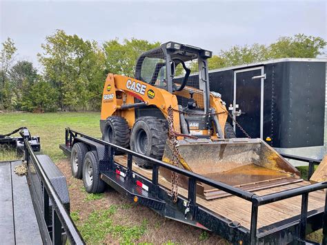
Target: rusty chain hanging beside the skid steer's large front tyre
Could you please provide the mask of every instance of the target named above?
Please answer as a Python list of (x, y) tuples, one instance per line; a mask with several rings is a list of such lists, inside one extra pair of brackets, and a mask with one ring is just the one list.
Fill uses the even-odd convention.
[[(175, 135), (174, 130), (174, 117), (172, 115), (174, 109), (172, 109), (171, 106), (168, 108), (168, 139), (170, 141), (170, 144), (172, 144), (172, 165), (178, 166), (178, 156), (179, 151), (177, 148), (177, 139)], [(171, 182), (172, 182), (172, 189), (170, 191), (170, 194), (172, 195), (172, 202), (177, 202), (177, 195), (178, 195), (178, 173), (172, 172), (171, 175)]]

